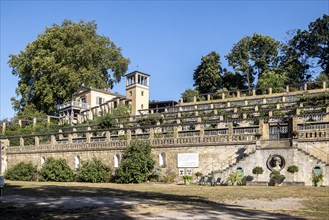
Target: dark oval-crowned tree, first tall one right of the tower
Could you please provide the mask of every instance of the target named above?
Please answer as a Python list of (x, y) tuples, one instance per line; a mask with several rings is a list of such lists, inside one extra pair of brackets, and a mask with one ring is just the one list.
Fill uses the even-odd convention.
[(201, 64), (193, 74), (194, 86), (199, 93), (216, 92), (222, 83), (220, 56), (212, 51), (201, 58)]

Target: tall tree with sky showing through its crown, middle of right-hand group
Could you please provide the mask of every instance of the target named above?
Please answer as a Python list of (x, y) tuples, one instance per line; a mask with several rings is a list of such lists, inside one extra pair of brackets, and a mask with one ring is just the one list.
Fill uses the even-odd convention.
[(246, 75), (248, 87), (251, 88), (255, 76), (260, 77), (264, 71), (277, 68), (279, 51), (278, 41), (255, 33), (236, 43), (226, 59), (234, 70)]

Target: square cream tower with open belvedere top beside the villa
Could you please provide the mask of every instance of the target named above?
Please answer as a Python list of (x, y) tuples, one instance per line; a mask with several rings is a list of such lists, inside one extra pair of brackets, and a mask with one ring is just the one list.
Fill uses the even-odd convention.
[(140, 115), (139, 110), (149, 108), (149, 77), (150, 75), (139, 71), (126, 75), (126, 97), (131, 99), (132, 115)]

